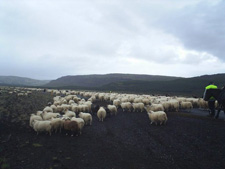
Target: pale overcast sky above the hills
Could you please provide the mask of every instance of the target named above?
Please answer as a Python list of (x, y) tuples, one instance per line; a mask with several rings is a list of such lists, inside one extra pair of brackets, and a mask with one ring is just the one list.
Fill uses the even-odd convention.
[(1, 0), (0, 75), (225, 73), (223, 0)]

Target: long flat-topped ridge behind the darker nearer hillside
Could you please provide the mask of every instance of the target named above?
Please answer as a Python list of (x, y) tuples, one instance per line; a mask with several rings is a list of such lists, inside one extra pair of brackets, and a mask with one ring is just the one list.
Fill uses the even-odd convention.
[(173, 77), (173, 76), (155, 76), (155, 75), (137, 75), (137, 74), (76, 75), (76, 76), (63, 76), (56, 80), (52, 80), (51, 82), (46, 84), (46, 86), (101, 87), (110, 83), (125, 82), (132, 80), (171, 81), (179, 78), (180, 77)]

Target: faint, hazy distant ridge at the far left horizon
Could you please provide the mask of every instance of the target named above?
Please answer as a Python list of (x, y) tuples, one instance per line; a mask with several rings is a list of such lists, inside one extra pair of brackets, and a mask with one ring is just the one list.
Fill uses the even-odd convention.
[(18, 76), (0, 76), (0, 85), (42, 86), (49, 82), (50, 80), (36, 80)]

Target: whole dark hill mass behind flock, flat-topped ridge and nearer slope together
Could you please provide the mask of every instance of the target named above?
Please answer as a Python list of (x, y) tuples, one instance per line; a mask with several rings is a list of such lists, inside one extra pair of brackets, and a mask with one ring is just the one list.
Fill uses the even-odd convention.
[(65, 76), (51, 81), (46, 86), (202, 97), (205, 86), (210, 81), (214, 81), (218, 87), (222, 87), (225, 85), (225, 74), (203, 75), (192, 78), (133, 74)]

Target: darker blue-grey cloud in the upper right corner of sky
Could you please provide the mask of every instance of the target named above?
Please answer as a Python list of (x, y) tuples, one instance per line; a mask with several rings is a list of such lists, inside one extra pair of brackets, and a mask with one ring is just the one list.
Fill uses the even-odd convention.
[(164, 16), (156, 22), (178, 37), (188, 49), (208, 52), (225, 61), (225, 1), (212, 5), (200, 2)]

